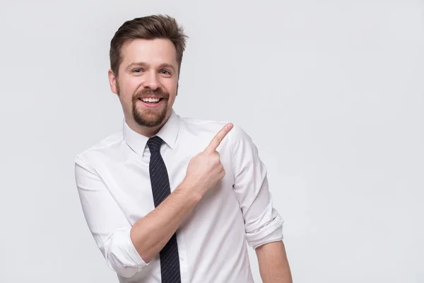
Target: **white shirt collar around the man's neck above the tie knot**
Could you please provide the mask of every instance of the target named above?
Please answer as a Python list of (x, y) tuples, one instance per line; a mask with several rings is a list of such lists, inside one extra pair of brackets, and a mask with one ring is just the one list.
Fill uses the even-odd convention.
[[(165, 125), (160, 128), (156, 136), (163, 139), (163, 141), (165, 141), (165, 144), (167, 144), (167, 146), (170, 146), (170, 148), (173, 149), (175, 146), (175, 141), (177, 141), (178, 132), (179, 116), (175, 113), (174, 110), (172, 110), (169, 119), (167, 120), (167, 122), (165, 122)], [(125, 119), (123, 125), (123, 135), (126, 144), (128, 144), (129, 147), (131, 147), (131, 149), (136, 152), (136, 154), (143, 156), (144, 149), (146, 148), (146, 144), (149, 138), (131, 129), (129, 125), (126, 124)]]

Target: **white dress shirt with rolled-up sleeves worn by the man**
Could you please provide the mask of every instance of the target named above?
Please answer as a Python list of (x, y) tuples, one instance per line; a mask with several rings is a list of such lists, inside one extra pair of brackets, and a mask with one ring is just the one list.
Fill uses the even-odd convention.
[[(174, 111), (158, 132), (171, 192), (192, 157), (206, 149), (225, 122), (179, 117)], [(160, 282), (160, 261), (143, 261), (131, 226), (153, 209), (148, 137), (123, 129), (75, 157), (83, 214), (107, 265), (119, 282)], [(266, 168), (246, 132), (234, 125), (217, 151), (225, 177), (211, 188), (177, 229), (182, 283), (253, 282), (247, 244), (283, 239), (283, 219), (273, 208)], [(155, 235), (151, 235), (154, 237)]]

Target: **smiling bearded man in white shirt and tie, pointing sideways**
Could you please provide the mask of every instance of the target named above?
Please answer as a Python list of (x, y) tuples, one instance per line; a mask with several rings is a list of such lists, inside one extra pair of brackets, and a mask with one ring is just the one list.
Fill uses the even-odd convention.
[(292, 282), (281, 217), (252, 139), (231, 123), (172, 109), (186, 35), (174, 18), (126, 21), (109, 81), (123, 129), (75, 158), (95, 243), (119, 282)]

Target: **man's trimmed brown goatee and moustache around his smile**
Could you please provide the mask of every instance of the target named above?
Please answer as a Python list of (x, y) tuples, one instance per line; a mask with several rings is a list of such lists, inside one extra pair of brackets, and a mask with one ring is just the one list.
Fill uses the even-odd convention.
[[(157, 96), (162, 98), (163, 102), (160, 108), (145, 108), (140, 110), (137, 108), (137, 101), (143, 96)], [(141, 127), (157, 127), (162, 124), (167, 116), (168, 100), (170, 99), (169, 93), (163, 91), (161, 88), (152, 90), (151, 88), (144, 88), (138, 93), (134, 93), (132, 97), (132, 116), (134, 121)]]

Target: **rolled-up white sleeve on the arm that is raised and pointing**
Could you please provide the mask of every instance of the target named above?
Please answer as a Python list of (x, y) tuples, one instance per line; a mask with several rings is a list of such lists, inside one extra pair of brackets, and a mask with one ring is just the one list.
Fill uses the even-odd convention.
[(117, 275), (132, 277), (148, 264), (131, 241), (131, 224), (102, 179), (80, 156), (75, 158), (75, 178), (88, 229), (107, 265)]

